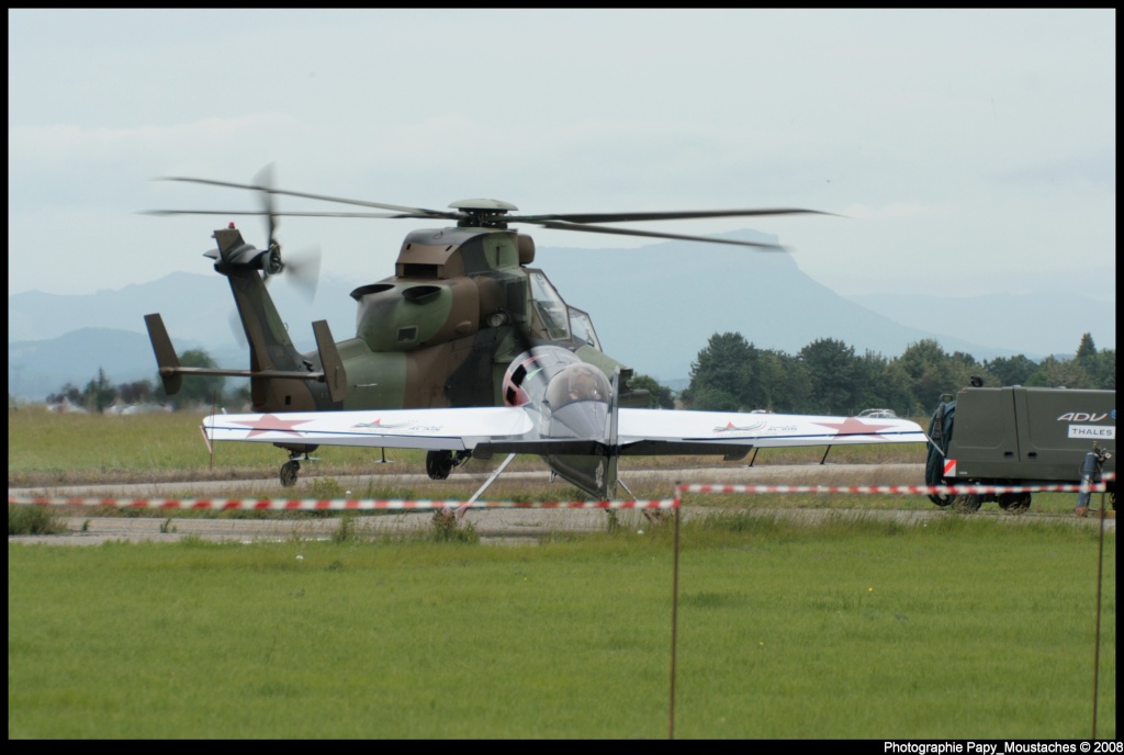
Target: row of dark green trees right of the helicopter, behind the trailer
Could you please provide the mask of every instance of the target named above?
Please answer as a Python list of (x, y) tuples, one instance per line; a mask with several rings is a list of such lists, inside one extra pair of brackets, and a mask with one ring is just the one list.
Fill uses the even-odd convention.
[(900, 356), (856, 354), (841, 340), (821, 338), (796, 355), (758, 348), (738, 333), (710, 336), (691, 363), (685, 407), (711, 411), (854, 415), (891, 409), (900, 417), (930, 415), (943, 393), (972, 376), (985, 386), (1034, 385), (1116, 390), (1116, 351), (1097, 351), (1085, 334), (1072, 357), (1034, 362), (1019, 354), (977, 361), (945, 352), (933, 339), (910, 344)]

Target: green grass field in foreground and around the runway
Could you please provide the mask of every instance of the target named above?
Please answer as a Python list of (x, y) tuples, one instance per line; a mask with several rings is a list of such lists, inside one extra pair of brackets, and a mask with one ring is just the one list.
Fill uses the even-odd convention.
[[(183, 480), (190, 494), (191, 481), (260, 470), (275, 494), (277, 449), (226, 444), (208, 471), (198, 421), (21, 409), (9, 413), (9, 486)], [(818, 460), (804, 451), (769, 463)], [(912, 447), (836, 451), (840, 462), (921, 461)], [(332, 453), (327, 476), (302, 491), (336, 497), (335, 476), (370, 471), (371, 452)], [(418, 454), (409, 471), (423, 467)], [(569, 500), (538, 488), (492, 500)], [(952, 512), (925, 526), (808, 526), (736, 511), (937, 510), (924, 497), (683, 504), (727, 511), (681, 530), (677, 738), (1087, 738), (1095, 672), (1096, 734), (1116, 737), (1115, 530), (1102, 539), (1059, 521), (1072, 495), (1036, 494), (1045, 516), (1019, 526)], [(673, 531), (525, 547), (9, 545), (9, 738), (663, 738)]]

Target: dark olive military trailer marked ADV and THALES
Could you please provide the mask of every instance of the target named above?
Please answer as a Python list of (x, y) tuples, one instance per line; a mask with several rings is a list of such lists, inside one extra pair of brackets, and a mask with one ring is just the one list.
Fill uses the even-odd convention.
[[(1116, 391), (973, 385), (941, 399), (928, 428), (928, 485), (1079, 484), (1090, 452), (1098, 456), (1096, 480), (1116, 472)], [(1107, 489), (1115, 509), (1115, 481)], [(969, 511), (988, 501), (1007, 510), (1031, 504), (1030, 493), (930, 499)]]

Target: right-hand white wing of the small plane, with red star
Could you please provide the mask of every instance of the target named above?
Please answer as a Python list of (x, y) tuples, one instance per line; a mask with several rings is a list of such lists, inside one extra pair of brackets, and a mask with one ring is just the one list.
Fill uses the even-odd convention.
[[(908, 419), (810, 415), (620, 409), (618, 428), (622, 455), (727, 453), (731, 446), (749, 451), (927, 442), (921, 426)], [(706, 451), (709, 447), (714, 451)]]

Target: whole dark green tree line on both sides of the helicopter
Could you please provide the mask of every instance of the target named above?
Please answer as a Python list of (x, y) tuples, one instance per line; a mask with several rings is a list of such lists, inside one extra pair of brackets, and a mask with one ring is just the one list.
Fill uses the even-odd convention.
[[(194, 348), (180, 355), (190, 367), (217, 367), (210, 355)], [(1081, 336), (1072, 357), (1048, 356), (1041, 362), (1023, 356), (977, 361), (963, 352), (945, 352), (936, 340), (910, 344), (900, 356), (873, 352), (856, 354), (841, 340), (821, 338), (796, 355), (758, 348), (738, 333), (714, 334), (691, 362), (690, 384), (680, 395), (647, 375), (629, 385), (645, 389), (650, 406), (672, 409), (676, 399), (689, 409), (782, 413), (853, 415), (867, 408), (894, 410), (900, 417), (931, 413), (942, 393), (954, 393), (972, 376), (986, 386), (1037, 385), (1116, 390), (1116, 351), (1098, 351), (1093, 336)], [(228, 391), (219, 375), (188, 376), (175, 395), (163, 383), (139, 380), (111, 383), (103, 370), (84, 388), (67, 383), (47, 397), (48, 403), (66, 399), (90, 411), (116, 404), (155, 403), (173, 409), (209, 407), (217, 402), (247, 403), (250, 386)]]

